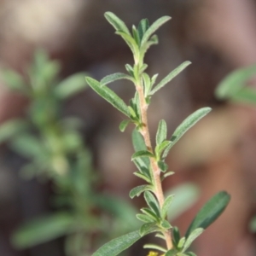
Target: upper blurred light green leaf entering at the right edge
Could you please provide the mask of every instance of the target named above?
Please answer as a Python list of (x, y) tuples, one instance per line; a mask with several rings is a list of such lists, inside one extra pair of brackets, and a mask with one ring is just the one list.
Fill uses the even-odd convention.
[(230, 73), (218, 84), (217, 90), (215, 91), (216, 96), (219, 99), (224, 99), (236, 95), (236, 93), (246, 85), (247, 80), (252, 78), (255, 73), (256, 65), (242, 67)]

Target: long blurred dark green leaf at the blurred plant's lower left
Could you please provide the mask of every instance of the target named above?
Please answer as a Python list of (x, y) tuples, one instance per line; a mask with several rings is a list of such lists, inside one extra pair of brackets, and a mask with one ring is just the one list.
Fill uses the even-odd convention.
[(74, 218), (66, 212), (59, 212), (22, 224), (11, 238), (16, 248), (33, 247), (45, 241), (69, 233), (73, 227)]

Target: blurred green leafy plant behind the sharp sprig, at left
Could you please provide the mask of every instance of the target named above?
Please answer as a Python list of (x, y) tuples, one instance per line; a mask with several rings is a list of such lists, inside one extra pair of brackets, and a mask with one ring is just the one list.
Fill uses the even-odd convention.
[[(22, 177), (50, 180), (55, 211), (18, 228), (12, 242), (17, 248), (66, 236), (67, 255), (91, 255), (105, 237), (137, 226), (135, 213), (124, 201), (97, 192), (91, 155), (79, 132), (81, 121), (63, 117), (63, 102), (86, 87), (85, 73), (60, 81), (60, 64), (38, 50), (24, 76), (1, 71), (9, 89), (29, 100), (26, 118), (0, 126), (0, 143), (7, 142), (26, 159)], [(111, 230), (111, 232), (109, 232)]]

